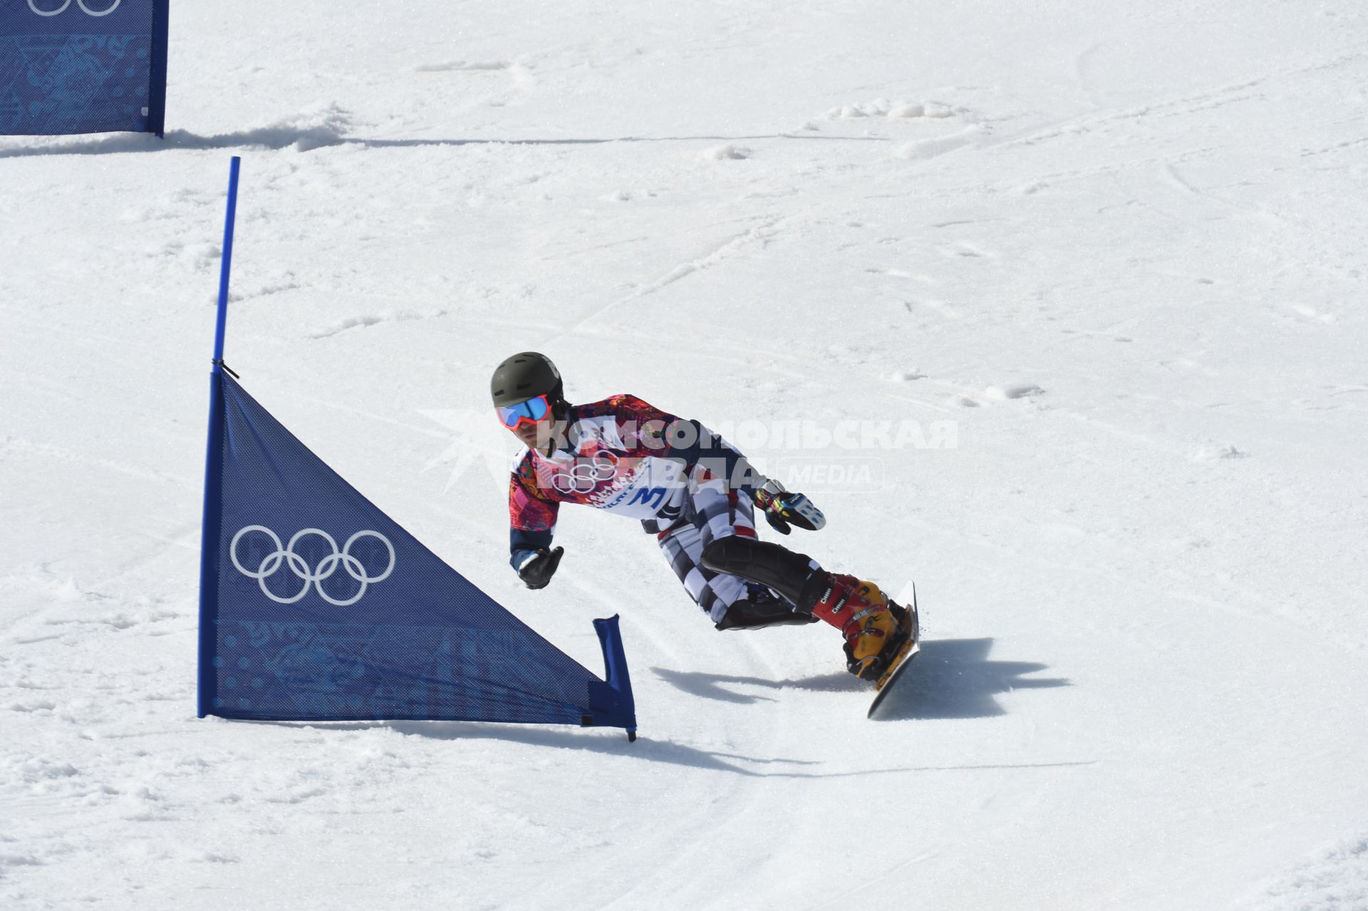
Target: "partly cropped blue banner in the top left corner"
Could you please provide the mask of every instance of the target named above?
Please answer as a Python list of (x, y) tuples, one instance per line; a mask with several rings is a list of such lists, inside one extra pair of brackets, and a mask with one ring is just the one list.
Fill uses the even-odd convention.
[(156, 133), (170, 0), (0, 0), (0, 134)]

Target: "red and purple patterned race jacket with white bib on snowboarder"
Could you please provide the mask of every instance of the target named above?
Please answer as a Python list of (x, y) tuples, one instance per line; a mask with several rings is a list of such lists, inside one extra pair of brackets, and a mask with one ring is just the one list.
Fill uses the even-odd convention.
[(680, 516), (689, 472), (703, 465), (751, 490), (763, 477), (698, 421), (653, 408), (635, 395), (572, 405), (566, 442), (551, 456), (518, 450), (509, 479), (512, 564), (547, 547), (561, 503), (583, 503), (661, 527)]

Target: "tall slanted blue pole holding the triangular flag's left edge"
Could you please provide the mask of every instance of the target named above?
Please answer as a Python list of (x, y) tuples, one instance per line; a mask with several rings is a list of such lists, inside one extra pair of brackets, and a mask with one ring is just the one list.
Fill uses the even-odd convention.
[(223, 268), (219, 272), (219, 313), (213, 331), (213, 369), (209, 372), (209, 442), (204, 457), (204, 531), (200, 540), (200, 672), (197, 714), (218, 707), (213, 655), (219, 635), (219, 538), (223, 510), (223, 334), (228, 323), (228, 275), (233, 269), (233, 223), (238, 209), (238, 170), (228, 171), (228, 212), (223, 224)]

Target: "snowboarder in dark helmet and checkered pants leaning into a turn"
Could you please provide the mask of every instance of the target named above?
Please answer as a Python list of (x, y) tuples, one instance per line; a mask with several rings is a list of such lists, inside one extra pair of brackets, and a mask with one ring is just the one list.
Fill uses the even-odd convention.
[(845, 637), (848, 670), (874, 681), (908, 644), (912, 618), (878, 585), (757, 538), (755, 506), (785, 535), (826, 520), (698, 421), (635, 395), (570, 405), (560, 371), (536, 352), (499, 364), (490, 391), (524, 445), (509, 479), (509, 562), (528, 588), (546, 587), (561, 564), (564, 547), (551, 549), (560, 505), (584, 503), (639, 518), (717, 629), (824, 620)]

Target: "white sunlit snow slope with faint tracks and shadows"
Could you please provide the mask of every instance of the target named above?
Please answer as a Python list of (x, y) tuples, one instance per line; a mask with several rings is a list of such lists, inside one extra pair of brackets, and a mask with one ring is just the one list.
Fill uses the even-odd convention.
[[(0, 140), (0, 906), (1368, 907), (1356, 4), (174, 5), (164, 142)], [(194, 718), (234, 153), (228, 362), (637, 743)], [(523, 349), (874, 460), (789, 543), (917, 580), (884, 721), (635, 523), (520, 587)]]

